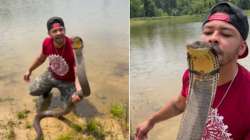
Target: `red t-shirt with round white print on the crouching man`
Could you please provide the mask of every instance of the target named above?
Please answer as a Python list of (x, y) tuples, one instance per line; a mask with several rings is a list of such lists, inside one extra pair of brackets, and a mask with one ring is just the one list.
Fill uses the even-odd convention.
[(65, 46), (55, 48), (53, 39), (47, 37), (43, 41), (42, 53), (49, 58), (49, 71), (54, 78), (63, 81), (75, 81), (75, 58), (72, 40), (65, 36)]

